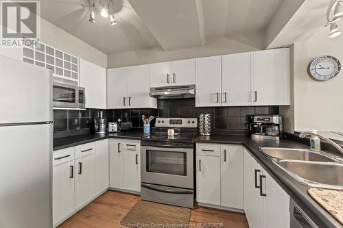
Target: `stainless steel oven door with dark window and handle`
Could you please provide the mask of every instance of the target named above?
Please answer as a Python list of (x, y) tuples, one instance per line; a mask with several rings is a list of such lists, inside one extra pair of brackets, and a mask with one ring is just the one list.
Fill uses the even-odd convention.
[(193, 144), (142, 142), (141, 182), (193, 189)]

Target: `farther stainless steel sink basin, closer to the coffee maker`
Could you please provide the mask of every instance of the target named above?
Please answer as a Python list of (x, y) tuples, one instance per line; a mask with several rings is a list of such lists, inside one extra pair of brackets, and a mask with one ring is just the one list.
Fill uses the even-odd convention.
[(335, 162), (326, 155), (316, 153), (306, 149), (287, 149), (287, 148), (272, 148), (262, 147), (259, 149), (265, 155), (276, 158), (278, 160), (301, 160), (311, 162)]

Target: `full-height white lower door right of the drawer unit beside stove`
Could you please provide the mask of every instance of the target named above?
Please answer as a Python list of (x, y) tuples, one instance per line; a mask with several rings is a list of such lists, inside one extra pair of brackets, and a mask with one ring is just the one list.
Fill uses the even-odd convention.
[(221, 146), (222, 206), (244, 209), (243, 148)]

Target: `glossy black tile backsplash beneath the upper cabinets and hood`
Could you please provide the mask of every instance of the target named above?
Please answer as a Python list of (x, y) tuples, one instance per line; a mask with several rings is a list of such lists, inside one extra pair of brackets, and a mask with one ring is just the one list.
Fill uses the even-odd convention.
[[(108, 121), (121, 118), (121, 128), (141, 130), (145, 116), (191, 117), (198, 118), (201, 113), (210, 113), (213, 130), (246, 131), (247, 115), (279, 114), (279, 106), (258, 107), (196, 107), (195, 99), (158, 99), (157, 109), (111, 109), (104, 111)], [(92, 131), (93, 118), (99, 115), (97, 109), (54, 110), (54, 137), (86, 134)], [(154, 121), (152, 122), (154, 125)]]

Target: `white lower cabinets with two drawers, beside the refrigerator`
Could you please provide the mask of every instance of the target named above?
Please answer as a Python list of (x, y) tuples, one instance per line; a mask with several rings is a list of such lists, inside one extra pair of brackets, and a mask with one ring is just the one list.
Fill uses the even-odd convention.
[(52, 185), (56, 227), (108, 188), (108, 139), (54, 151)]

